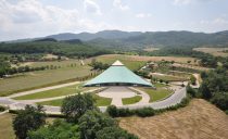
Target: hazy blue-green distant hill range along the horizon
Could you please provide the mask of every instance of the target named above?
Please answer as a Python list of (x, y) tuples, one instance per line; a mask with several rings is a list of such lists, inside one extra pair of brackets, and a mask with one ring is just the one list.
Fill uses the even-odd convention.
[[(149, 46), (153, 47), (228, 47), (228, 30), (205, 34), (193, 31), (122, 31), (102, 30), (98, 33), (64, 33), (50, 35), (47, 37), (16, 40), (33, 41), (37, 39), (52, 38), (58, 41), (68, 41), (78, 43), (83, 41), (87, 45), (105, 48), (131, 48), (141, 49)], [(15, 41), (11, 41), (15, 42)]]

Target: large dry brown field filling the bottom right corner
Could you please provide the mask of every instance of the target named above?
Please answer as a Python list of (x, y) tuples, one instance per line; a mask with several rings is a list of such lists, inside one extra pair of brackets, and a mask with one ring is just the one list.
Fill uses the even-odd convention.
[(140, 139), (228, 139), (228, 115), (201, 99), (178, 111), (119, 121), (121, 127)]

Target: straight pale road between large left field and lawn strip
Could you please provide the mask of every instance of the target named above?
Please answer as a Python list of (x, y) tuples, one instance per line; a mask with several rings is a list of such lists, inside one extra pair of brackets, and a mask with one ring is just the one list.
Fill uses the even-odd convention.
[(15, 94), (11, 94), (7, 98), (15, 98), (15, 97), (31, 94), (31, 93), (36, 93), (36, 92), (40, 92), (40, 91), (47, 91), (47, 90), (58, 89), (58, 88), (62, 88), (62, 87), (73, 86), (73, 85), (77, 85), (77, 84), (80, 84), (80, 81), (67, 83), (67, 84), (62, 84), (62, 85), (56, 85), (56, 86), (29, 90), (29, 91), (23, 91), (23, 92), (18, 92), (18, 93), (15, 93)]

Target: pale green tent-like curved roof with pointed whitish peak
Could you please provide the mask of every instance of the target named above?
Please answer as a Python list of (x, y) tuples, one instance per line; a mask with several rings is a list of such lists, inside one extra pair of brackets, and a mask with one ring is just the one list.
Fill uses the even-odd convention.
[(98, 75), (93, 79), (86, 83), (84, 86), (96, 86), (96, 85), (110, 85), (110, 84), (122, 84), (122, 85), (138, 85), (152, 87), (151, 83), (145, 81), (130, 70), (128, 70), (119, 61), (112, 64), (106, 71)]

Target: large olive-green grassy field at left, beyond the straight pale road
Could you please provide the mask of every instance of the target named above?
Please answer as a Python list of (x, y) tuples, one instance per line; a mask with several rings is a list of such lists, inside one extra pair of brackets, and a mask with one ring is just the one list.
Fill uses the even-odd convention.
[[(60, 63), (66, 64), (67, 62)], [(91, 74), (90, 68), (88, 65), (66, 66), (58, 70), (30, 72), (17, 77), (0, 79), (0, 96), (8, 96), (16, 91), (29, 90), (51, 84), (59, 84), (60, 81), (76, 77), (84, 77)]]

